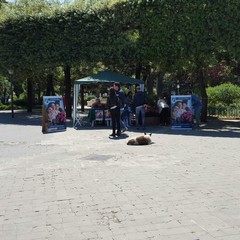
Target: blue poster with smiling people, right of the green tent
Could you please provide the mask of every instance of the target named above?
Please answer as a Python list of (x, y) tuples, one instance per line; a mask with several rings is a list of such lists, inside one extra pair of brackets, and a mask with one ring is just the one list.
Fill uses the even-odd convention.
[(178, 130), (192, 129), (191, 95), (171, 96), (171, 128)]

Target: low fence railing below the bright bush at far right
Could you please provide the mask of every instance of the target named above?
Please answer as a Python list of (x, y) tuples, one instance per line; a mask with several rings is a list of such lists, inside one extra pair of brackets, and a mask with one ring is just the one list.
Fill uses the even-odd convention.
[(240, 118), (240, 107), (208, 107), (208, 116)]

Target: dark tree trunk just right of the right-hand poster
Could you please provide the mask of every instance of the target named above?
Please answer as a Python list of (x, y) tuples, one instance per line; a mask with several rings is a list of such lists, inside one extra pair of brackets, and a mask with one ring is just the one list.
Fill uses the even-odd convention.
[(200, 86), (201, 97), (202, 97), (201, 121), (207, 122), (208, 96), (206, 92), (202, 64), (197, 64), (197, 77), (199, 79), (199, 86)]

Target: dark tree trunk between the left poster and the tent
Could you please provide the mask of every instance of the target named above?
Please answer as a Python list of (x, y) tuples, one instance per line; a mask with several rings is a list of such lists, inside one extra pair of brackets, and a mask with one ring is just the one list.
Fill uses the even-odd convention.
[(72, 97), (71, 97), (71, 67), (66, 65), (64, 67), (65, 74), (65, 99), (66, 99), (66, 116), (71, 118), (72, 113)]

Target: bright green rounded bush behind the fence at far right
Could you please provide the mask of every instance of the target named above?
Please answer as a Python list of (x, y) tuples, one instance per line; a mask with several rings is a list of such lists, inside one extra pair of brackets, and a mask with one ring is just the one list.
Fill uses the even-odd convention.
[(221, 107), (240, 103), (240, 87), (231, 83), (209, 87), (207, 95), (210, 106)]

